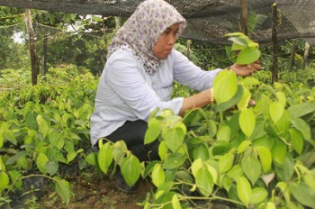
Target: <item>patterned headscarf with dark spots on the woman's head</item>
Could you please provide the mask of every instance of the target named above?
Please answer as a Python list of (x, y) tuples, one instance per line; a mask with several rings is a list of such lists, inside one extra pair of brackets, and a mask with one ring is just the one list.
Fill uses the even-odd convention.
[(146, 72), (152, 74), (162, 63), (153, 55), (153, 48), (166, 28), (179, 23), (178, 36), (184, 32), (186, 21), (173, 5), (164, 0), (142, 2), (115, 34), (108, 47), (107, 58), (118, 49), (130, 50), (143, 64)]

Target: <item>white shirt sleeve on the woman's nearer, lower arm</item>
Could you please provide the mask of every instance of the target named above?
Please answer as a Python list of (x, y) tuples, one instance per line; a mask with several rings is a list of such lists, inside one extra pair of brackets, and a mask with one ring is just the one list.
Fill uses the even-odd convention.
[(139, 119), (148, 121), (149, 114), (157, 108), (169, 108), (179, 114), (184, 98), (161, 101), (145, 79), (144, 68), (137, 59), (126, 56), (113, 59), (107, 69), (106, 82)]

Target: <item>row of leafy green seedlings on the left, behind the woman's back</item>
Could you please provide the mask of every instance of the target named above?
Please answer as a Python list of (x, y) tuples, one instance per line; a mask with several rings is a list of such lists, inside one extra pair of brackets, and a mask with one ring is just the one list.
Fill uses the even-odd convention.
[(0, 95), (0, 205), (23, 191), (28, 177), (49, 179), (69, 203), (63, 169), (87, 165), (84, 148), (90, 147), (89, 119), (97, 84), (91, 74), (73, 74), (76, 71), (74, 66), (51, 68), (40, 84)]

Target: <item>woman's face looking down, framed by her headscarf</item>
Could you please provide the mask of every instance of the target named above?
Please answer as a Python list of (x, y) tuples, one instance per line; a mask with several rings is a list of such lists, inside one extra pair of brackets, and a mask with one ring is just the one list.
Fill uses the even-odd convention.
[(174, 44), (178, 39), (177, 32), (179, 23), (166, 28), (166, 31), (158, 38), (153, 48), (153, 54), (158, 59), (166, 59), (173, 50)]

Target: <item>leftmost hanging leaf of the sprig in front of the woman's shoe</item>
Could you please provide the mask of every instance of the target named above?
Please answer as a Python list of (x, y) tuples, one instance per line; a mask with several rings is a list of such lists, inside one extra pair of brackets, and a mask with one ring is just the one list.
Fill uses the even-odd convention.
[(109, 142), (104, 143), (101, 150), (98, 151), (97, 161), (101, 170), (107, 174), (108, 168), (112, 164), (112, 147)]

